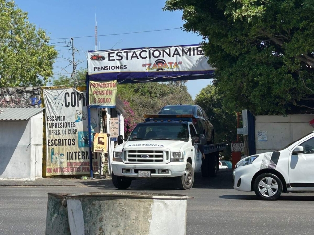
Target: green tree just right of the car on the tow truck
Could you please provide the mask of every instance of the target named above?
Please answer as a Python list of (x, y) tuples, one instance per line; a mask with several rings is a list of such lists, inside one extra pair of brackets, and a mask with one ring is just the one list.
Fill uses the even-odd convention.
[(225, 142), (227, 149), (222, 155), (229, 160), (231, 157), (231, 142), (236, 141), (237, 117), (223, 106), (224, 95), (220, 94), (214, 85), (208, 85), (196, 95), (195, 103), (201, 106), (209, 117), (215, 129), (215, 142)]

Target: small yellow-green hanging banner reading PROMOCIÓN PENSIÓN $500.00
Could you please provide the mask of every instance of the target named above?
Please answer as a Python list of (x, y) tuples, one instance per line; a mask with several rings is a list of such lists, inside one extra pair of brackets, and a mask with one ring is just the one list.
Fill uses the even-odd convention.
[(110, 82), (89, 82), (89, 106), (93, 108), (114, 108), (117, 98), (117, 80)]

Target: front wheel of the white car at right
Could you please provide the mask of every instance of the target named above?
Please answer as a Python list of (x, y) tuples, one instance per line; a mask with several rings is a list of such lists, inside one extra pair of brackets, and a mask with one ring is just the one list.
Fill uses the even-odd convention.
[(255, 179), (253, 189), (262, 200), (277, 200), (283, 191), (283, 184), (276, 175), (264, 173)]

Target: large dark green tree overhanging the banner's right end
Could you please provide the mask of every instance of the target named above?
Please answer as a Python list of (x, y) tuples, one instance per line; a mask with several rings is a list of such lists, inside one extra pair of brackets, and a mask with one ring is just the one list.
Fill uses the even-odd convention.
[(203, 36), (224, 104), (255, 114), (314, 110), (313, 0), (167, 0)]

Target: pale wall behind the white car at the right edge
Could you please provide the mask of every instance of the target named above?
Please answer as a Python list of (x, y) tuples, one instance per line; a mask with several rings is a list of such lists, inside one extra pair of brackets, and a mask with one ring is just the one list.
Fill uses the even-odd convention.
[[(275, 151), (314, 131), (309, 121), (314, 115), (262, 115), (255, 116), (256, 153)], [(267, 141), (258, 140), (258, 132), (267, 132)]]

